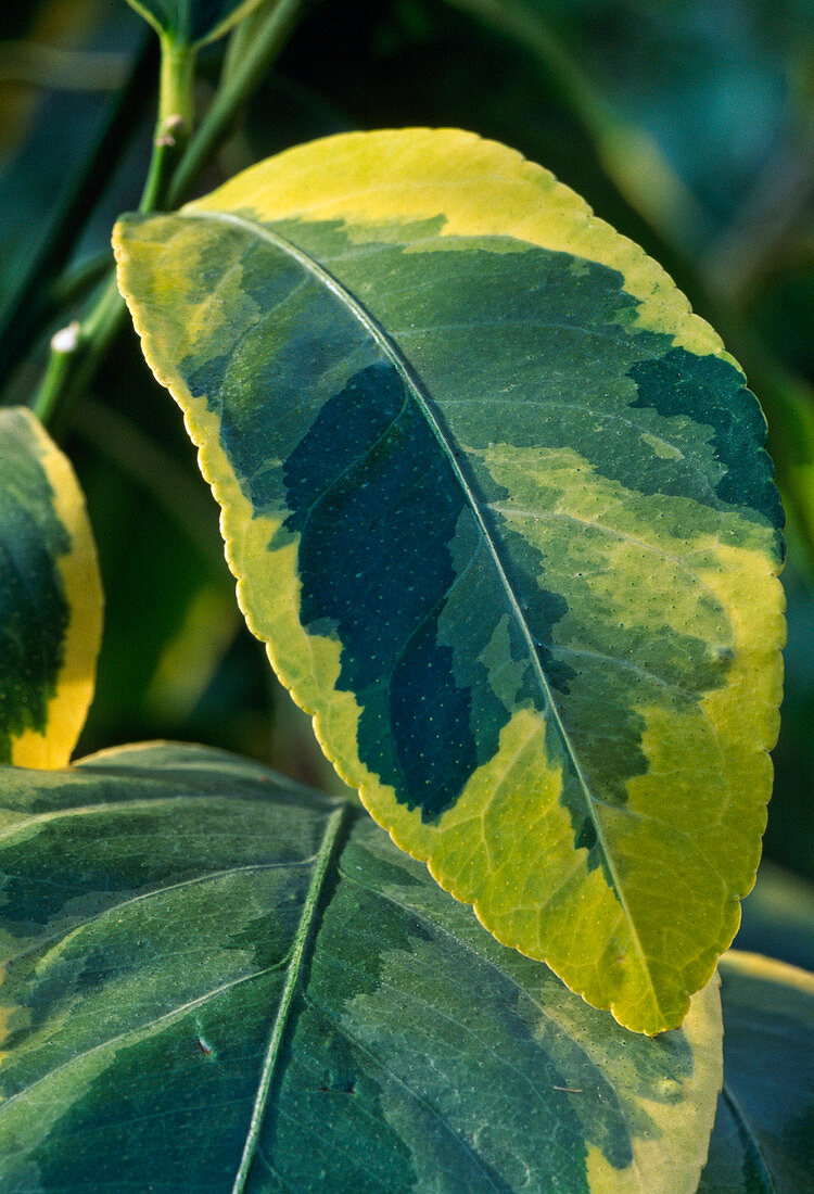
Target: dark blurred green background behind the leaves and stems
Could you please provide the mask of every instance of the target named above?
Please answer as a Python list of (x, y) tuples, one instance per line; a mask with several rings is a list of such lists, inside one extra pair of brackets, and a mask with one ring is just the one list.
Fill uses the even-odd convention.
[[(722, 333), (766, 411), (789, 517), (787, 696), (765, 855), (797, 879), (769, 872), (765, 899), (809, 921), (813, 18), (808, 0), (312, 0), (199, 185), (343, 129), (474, 129), (584, 195)], [(0, 377), (4, 401), (27, 401), (49, 334), (81, 313), (116, 214), (137, 203), (158, 56), (124, 0), (5, 5), (0, 38)], [(203, 54), (201, 110), (223, 53)], [(80, 752), (197, 740), (338, 790), (308, 719), (242, 628), (214, 503), (131, 332), (63, 443), (107, 599)], [(794, 937), (784, 955), (812, 965)]]

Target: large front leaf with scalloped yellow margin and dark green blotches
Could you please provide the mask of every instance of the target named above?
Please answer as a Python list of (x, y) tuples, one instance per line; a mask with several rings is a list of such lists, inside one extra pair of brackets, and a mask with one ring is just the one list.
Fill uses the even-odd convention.
[(765, 825), (765, 421), (664, 272), (512, 150), (351, 134), (117, 228), (239, 598), (399, 845), (633, 1029)]

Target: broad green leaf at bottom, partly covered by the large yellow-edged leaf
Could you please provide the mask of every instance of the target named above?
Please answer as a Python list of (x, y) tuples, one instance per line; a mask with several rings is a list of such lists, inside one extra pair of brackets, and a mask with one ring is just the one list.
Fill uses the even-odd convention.
[(0, 1188), (691, 1194), (717, 980), (634, 1036), (358, 806), (191, 746), (0, 770)]

